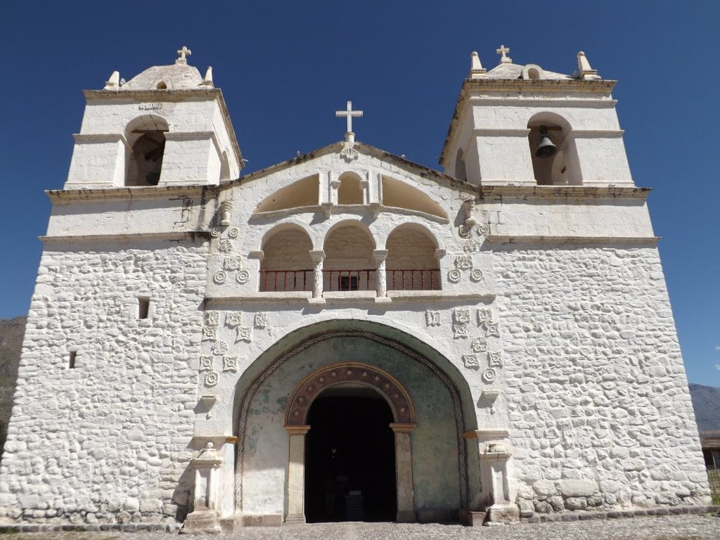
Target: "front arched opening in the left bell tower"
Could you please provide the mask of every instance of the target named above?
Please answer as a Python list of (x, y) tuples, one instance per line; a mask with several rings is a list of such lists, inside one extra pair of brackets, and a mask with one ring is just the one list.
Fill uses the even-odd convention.
[(127, 125), (125, 186), (158, 185), (168, 130), (168, 122), (156, 114), (145, 114)]

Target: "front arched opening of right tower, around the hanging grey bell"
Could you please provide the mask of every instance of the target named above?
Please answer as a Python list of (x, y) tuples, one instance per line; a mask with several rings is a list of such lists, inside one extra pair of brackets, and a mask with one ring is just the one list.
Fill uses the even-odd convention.
[[(540, 112), (528, 120), (528, 129), (530, 130), (528, 145), (537, 184), (539, 186), (582, 185), (580, 163), (570, 122), (554, 112)], [(543, 130), (557, 148), (554, 156), (544, 158), (536, 156)]]

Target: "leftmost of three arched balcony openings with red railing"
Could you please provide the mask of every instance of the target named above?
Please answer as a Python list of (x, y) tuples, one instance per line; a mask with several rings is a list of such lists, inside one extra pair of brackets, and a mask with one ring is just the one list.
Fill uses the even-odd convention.
[(263, 243), (261, 292), (312, 291), (312, 241), (304, 230), (279, 228)]

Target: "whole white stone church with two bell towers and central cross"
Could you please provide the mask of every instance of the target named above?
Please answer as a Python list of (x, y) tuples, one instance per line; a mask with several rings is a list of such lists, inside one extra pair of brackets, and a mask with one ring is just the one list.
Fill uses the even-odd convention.
[(212, 71), (178, 53), (84, 93), (4, 523), (710, 502), (649, 189), (583, 53), (572, 76), (473, 53), (444, 172), (357, 142), (348, 102), (343, 141), (246, 176)]

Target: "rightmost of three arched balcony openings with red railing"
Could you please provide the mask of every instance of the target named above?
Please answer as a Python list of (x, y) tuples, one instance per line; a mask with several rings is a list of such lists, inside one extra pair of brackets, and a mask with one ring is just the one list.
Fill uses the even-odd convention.
[(388, 290), (440, 290), (440, 266), (436, 243), (423, 228), (400, 225), (385, 243)]

